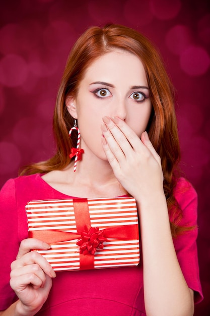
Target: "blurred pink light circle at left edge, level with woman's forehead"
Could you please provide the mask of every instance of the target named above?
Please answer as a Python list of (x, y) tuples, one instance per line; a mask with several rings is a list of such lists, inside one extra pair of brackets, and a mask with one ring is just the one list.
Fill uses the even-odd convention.
[(0, 61), (0, 82), (7, 87), (22, 85), (28, 76), (28, 65), (18, 55), (7, 55)]

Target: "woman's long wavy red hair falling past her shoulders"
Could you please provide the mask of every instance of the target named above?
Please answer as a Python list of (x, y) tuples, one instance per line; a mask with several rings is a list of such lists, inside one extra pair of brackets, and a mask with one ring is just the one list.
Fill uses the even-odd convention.
[(97, 58), (116, 48), (136, 55), (145, 68), (153, 106), (147, 131), (161, 157), (164, 191), (169, 213), (173, 218), (171, 232), (175, 237), (187, 228), (179, 226), (182, 213), (173, 195), (179, 177), (180, 161), (174, 89), (158, 50), (147, 37), (131, 28), (116, 24), (107, 24), (103, 28), (93, 26), (77, 40), (69, 54), (54, 109), (53, 131), (56, 153), (47, 161), (26, 167), (21, 174), (62, 170), (69, 164), (69, 150), (71, 147), (76, 147), (76, 138), (72, 139), (68, 136), (68, 131), (74, 125), (74, 119), (66, 109), (66, 96), (76, 96), (86, 69)]

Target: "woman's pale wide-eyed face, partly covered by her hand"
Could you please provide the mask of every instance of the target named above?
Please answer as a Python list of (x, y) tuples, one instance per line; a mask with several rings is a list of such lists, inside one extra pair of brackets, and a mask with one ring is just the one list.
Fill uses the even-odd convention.
[(78, 119), (81, 148), (106, 160), (101, 145), (104, 116), (119, 117), (141, 137), (152, 105), (144, 66), (135, 55), (116, 49), (95, 60), (80, 82), (76, 98), (66, 99)]

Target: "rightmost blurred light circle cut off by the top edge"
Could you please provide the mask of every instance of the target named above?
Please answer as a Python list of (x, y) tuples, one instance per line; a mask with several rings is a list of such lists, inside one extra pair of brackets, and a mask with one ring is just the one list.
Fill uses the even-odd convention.
[(154, 16), (160, 20), (170, 20), (177, 16), (181, 9), (180, 0), (151, 0), (150, 8)]

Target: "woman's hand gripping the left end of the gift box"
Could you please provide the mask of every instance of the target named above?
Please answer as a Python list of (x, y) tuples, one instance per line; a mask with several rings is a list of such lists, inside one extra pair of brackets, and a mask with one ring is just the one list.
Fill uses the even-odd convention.
[(55, 272), (41, 254), (31, 249), (49, 248), (41, 240), (24, 239), (16, 260), (11, 264), (10, 285), (19, 298), (16, 308), (23, 315), (34, 315), (48, 297)]

